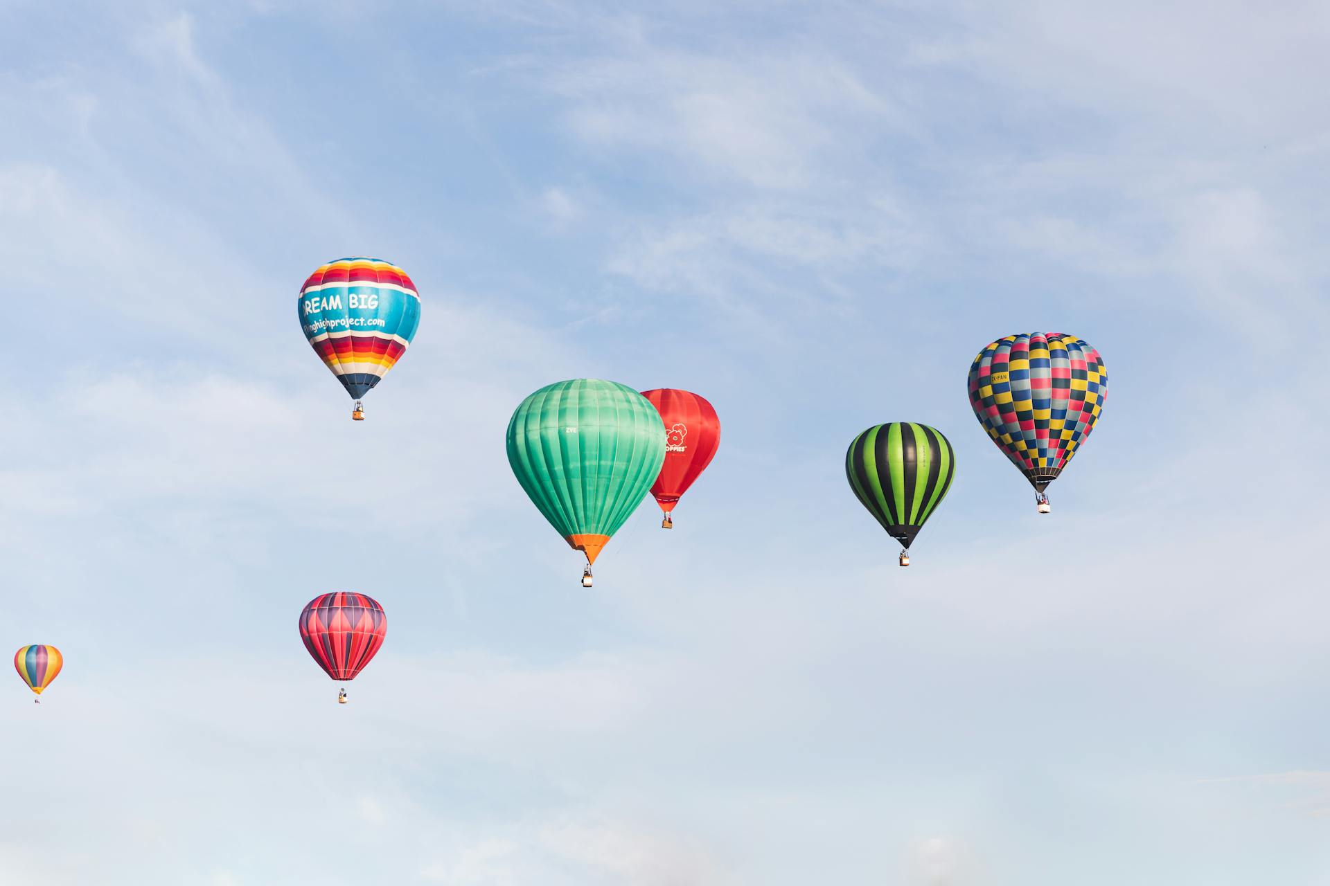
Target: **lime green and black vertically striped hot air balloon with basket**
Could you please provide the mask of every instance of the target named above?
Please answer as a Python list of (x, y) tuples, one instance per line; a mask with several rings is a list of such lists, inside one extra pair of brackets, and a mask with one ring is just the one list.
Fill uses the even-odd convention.
[(942, 432), (912, 421), (868, 428), (845, 454), (850, 489), (891, 538), (900, 542), (900, 565), (910, 566), (910, 543), (947, 495), (956, 454)]

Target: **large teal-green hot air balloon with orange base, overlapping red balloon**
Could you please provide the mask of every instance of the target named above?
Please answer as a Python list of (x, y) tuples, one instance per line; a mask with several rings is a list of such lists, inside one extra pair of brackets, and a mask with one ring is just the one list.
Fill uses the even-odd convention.
[(508, 422), (508, 464), (531, 501), (587, 555), (583, 586), (609, 537), (661, 473), (665, 425), (628, 385), (573, 379), (521, 401)]

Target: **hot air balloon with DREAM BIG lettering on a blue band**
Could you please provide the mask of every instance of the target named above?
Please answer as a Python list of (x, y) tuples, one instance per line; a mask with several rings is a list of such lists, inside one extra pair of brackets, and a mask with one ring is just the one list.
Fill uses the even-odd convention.
[(407, 272), (382, 259), (338, 259), (321, 266), (295, 300), (301, 328), (346, 392), (351, 417), (360, 399), (406, 353), (420, 325), (420, 296)]

